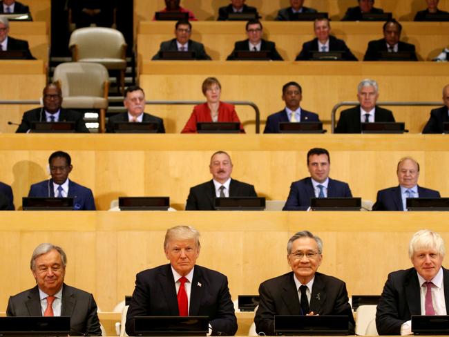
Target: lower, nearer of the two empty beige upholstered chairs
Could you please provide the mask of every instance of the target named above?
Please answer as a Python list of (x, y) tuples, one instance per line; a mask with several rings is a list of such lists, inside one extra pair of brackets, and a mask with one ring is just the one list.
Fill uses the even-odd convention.
[(55, 68), (53, 81), (61, 86), (64, 108), (99, 109), (99, 132), (104, 132), (109, 75), (101, 64), (67, 62)]

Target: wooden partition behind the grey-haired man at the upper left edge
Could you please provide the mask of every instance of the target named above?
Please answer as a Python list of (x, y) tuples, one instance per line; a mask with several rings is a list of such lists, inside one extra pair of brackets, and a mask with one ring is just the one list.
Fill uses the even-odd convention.
[(10, 21), (10, 36), (28, 41), (32, 56), (44, 61), (48, 66), (50, 35), (45, 21)]

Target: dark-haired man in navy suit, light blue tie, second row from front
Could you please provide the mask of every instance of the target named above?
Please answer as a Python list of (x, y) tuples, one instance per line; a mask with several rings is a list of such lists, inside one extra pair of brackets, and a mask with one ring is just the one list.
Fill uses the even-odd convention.
[(292, 182), (283, 211), (307, 211), (310, 198), (351, 198), (350, 186), (329, 178), (330, 156), (325, 148), (312, 148), (307, 153), (310, 177)]

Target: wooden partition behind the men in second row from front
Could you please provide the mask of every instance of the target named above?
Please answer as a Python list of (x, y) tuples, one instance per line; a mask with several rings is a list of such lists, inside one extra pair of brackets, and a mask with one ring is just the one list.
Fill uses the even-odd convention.
[(16, 206), (30, 184), (48, 179), (50, 153), (68, 151), (70, 179), (93, 190), (97, 209), (120, 195), (168, 195), (184, 209), (191, 186), (211, 179), (212, 153), (228, 151), (232, 177), (254, 184), (258, 195), (286, 200), (290, 184), (309, 175), (310, 148), (330, 151), (330, 176), (350, 184), (352, 194), (375, 200), (397, 185), (397, 162), (412, 155), (421, 164), (419, 184), (449, 196), (446, 135), (0, 135), (0, 181), (12, 185)]

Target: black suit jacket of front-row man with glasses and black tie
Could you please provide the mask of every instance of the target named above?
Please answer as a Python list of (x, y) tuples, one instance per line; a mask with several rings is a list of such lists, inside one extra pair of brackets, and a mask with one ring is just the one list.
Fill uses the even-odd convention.
[[(300, 315), (298, 289), (290, 271), (277, 278), (262, 282), (259, 287), (260, 302), (254, 317), (256, 331), (274, 336), (274, 315)], [(345, 282), (315, 273), (309, 309), (318, 315), (343, 315), (349, 318), (350, 335), (354, 334), (354, 316), (347, 298)]]

